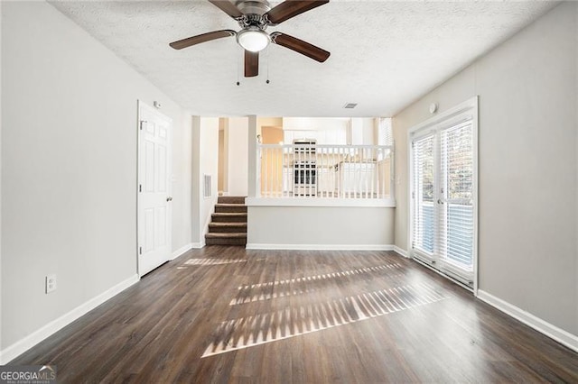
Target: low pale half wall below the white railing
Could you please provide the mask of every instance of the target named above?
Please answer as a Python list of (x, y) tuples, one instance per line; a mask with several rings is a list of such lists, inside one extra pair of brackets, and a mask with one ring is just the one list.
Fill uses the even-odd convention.
[(247, 248), (392, 249), (394, 208), (249, 206)]

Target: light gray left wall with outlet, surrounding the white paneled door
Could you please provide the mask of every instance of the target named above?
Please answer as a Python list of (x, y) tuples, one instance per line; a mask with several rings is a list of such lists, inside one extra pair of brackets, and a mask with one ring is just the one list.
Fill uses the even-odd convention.
[[(3, 2), (2, 16), (1, 348), (10, 359), (43, 326), (136, 277), (137, 99), (161, 102), (183, 140), (173, 151), (173, 227), (188, 225), (191, 167), (186, 114), (134, 69), (44, 2)], [(175, 233), (173, 247), (190, 242)], [(50, 273), (58, 289), (46, 295)]]

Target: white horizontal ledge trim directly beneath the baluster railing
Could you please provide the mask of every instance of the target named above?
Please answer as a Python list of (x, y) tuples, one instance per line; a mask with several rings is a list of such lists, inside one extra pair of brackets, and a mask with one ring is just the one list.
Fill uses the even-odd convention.
[(247, 197), (246, 206), (370, 206), (395, 207), (394, 198)]

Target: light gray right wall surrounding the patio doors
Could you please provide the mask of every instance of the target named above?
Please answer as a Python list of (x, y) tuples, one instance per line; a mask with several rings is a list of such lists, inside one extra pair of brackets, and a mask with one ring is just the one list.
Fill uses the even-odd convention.
[(394, 119), (396, 245), (407, 130), (480, 96), (480, 290), (578, 334), (578, 4), (564, 3)]

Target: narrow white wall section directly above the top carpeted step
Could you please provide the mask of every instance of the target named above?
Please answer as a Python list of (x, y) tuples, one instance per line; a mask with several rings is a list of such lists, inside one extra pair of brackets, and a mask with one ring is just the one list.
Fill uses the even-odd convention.
[(247, 196), (248, 118), (228, 119), (228, 195)]

